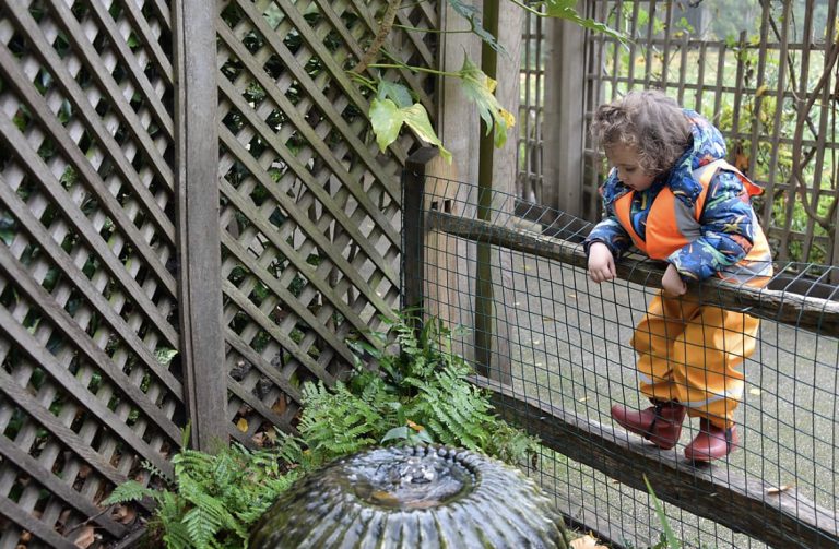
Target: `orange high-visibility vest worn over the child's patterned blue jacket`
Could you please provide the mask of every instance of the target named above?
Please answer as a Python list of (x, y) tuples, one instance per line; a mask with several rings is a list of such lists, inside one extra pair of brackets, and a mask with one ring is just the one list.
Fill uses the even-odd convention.
[[(678, 200), (669, 187), (664, 187), (659, 192), (647, 216), (646, 239), (641, 239), (633, 228), (630, 208), (635, 191), (630, 191), (615, 201), (615, 215), (631, 237), (636, 248), (652, 259), (666, 260), (673, 252), (699, 238), (701, 236), (699, 219), (705, 207), (708, 188), (718, 169), (726, 169), (736, 174), (743, 181), (749, 196), (763, 192), (763, 189), (753, 183), (734, 166), (722, 159), (714, 160), (694, 170), (694, 179), (702, 186), (702, 190), (696, 199), (693, 211)], [(772, 255), (769, 250), (769, 242), (766, 240), (754, 211), (752, 212), (752, 224), (754, 227), (752, 250), (737, 263), (736, 266), (740, 268), (729, 267), (719, 273), (720, 277), (745, 281), (754, 276), (771, 275)]]

